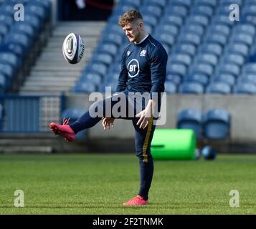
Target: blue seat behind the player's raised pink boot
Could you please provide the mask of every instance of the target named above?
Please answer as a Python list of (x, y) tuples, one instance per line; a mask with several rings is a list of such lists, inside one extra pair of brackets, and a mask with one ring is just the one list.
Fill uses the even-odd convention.
[[(81, 109), (77, 107), (69, 107), (62, 112), (62, 120), (70, 118), (69, 123), (72, 124), (75, 121), (77, 121), (85, 112), (86, 112), (85, 109)], [(85, 139), (86, 132), (87, 132), (86, 130), (82, 130), (78, 132), (75, 135), (75, 138), (80, 140)]]

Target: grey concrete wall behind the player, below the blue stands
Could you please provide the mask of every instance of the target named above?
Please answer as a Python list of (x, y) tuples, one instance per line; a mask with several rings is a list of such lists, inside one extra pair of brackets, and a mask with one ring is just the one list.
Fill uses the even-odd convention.
[[(167, 95), (166, 124), (158, 128), (175, 128), (176, 117), (181, 109), (193, 108), (206, 112), (213, 108), (224, 108), (231, 115), (232, 142), (256, 142), (256, 96), (253, 95)], [(88, 95), (70, 94), (67, 107), (84, 107), (88, 109), (92, 102)], [(90, 129), (92, 138), (125, 139), (133, 137), (133, 125), (129, 120), (115, 120), (112, 130), (104, 131), (100, 123)]]

